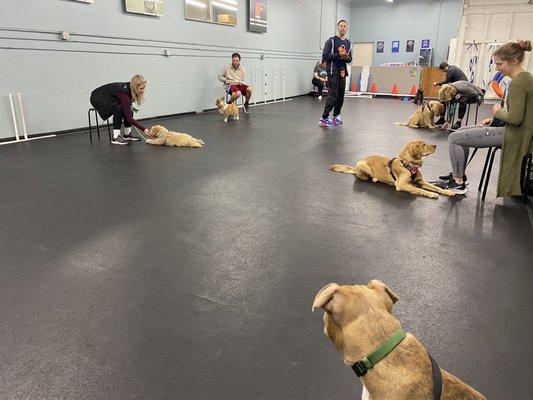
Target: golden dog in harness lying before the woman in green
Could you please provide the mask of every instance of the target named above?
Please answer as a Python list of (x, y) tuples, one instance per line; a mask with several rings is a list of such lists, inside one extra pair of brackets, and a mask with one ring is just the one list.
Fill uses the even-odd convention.
[(435, 152), (434, 144), (426, 144), (422, 140), (411, 140), (398, 157), (370, 156), (359, 161), (355, 167), (334, 164), (332, 171), (353, 174), (363, 181), (383, 182), (396, 186), (396, 190), (426, 196), (432, 199), (439, 197), (437, 193), (454, 196), (451, 190), (441, 189), (424, 180), (420, 169), (422, 157)]

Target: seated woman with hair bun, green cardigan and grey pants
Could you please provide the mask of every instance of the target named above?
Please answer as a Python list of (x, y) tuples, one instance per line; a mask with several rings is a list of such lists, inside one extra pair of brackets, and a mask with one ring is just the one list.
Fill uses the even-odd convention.
[(522, 159), (533, 147), (533, 76), (522, 66), (526, 51), (531, 51), (529, 40), (504, 44), (494, 52), (496, 69), (512, 79), (507, 106), (494, 105), (493, 118), (477, 126), (465, 126), (448, 136), (453, 172), (449, 182), (442, 186), (458, 194), (466, 193), (465, 168), (470, 147), (501, 147), (497, 196), (522, 195)]

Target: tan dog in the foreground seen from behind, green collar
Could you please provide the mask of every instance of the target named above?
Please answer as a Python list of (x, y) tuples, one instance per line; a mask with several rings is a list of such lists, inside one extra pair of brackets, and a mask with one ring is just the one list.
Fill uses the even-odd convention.
[[(401, 328), (392, 314), (398, 297), (383, 283), (339, 286), (330, 283), (315, 297), (313, 311), (325, 313), (324, 333), (352, 366)], [(486, 400), (466, 383), (441, 369), (441, 400)], [(361, 376), (363, 399), (430, 400), (433, 376), (426, 349), (410, 333), (388, 355)]]

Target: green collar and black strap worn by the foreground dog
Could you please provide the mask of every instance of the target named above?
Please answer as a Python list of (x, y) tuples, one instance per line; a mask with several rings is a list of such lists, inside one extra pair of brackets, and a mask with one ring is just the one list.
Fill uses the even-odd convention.
[[(403, 329), (398, 329), (392, 337), (374, 350), (371, 354), (352, 365), (353, 372), (358, 377), (366, 375), (378, 362), (383, 360), (398, 346), (407, 334)], [(433, 400), (440, 400), (442, 395), (442, 372), (433, 357), (428, 353), (431, 362), (431, 374), (433, 377)]]

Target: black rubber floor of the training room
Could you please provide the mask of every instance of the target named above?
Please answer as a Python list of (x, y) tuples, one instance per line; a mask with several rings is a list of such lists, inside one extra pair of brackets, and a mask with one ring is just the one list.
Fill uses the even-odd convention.
[(479, 201), (485, 150), (453, 199), (328, 170), (420, 137), (438, 145), (424, 175), (449, 172), (445, 134), (394, 125), (415, 109), (346, 99), (325, 130), (305, 97), (155, 121), (203, 149), (85, 133), (0, 147), (0, 398), (357, 399), (311, 304), (374, 278), (442, 368), (529, 398), (531, 198), (496, 199), (496, 163)]

